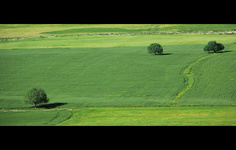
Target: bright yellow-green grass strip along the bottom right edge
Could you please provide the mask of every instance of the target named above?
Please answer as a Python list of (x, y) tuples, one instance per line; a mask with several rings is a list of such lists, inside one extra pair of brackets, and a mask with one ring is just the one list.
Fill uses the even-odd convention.
[(235, 126), (235, 107), (81, 108), (60, 126)]

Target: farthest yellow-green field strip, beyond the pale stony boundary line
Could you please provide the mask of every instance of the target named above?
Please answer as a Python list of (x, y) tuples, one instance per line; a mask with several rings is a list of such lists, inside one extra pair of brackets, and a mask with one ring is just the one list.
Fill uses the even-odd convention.
[(235, 31), (235, 24), (0, 24), (0, 38), (140, 32)]

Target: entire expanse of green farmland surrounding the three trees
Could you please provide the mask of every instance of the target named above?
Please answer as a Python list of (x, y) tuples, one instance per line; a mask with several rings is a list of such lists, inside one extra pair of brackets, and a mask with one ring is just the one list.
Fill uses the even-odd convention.
[[(211, 31), (210, 25), (202, 28), (183, 26), (159, 25), (162, 27), (159, 30), (179, 27), (184, 32), (192, 26), (194, 30)], [(9, 38), (29, 36), (20, 30), (22, 28), (31, 35), (137, 33), (156, 28), (143, 24), (0, 27), (4, 38), (8, 34)], [(212, 28), (226, 31), (236, 26), (213, 25)], [(6, 29), (18, 31), (15, 32), (17, 35)], [(205, 53), (203, 47), (211, 40), (223, 43), (226, 50), (217, 54)], [(147, 53), (147, 46), (154, 42), (163, 46), (164, 55)], [(71, 117), (68, 108), (73, 109), (73, 116), (58, 125), (235, 125), (235, 43), (235, 35), (93, 35), (0, 41), (0, 125), (56, 125)], [(22, 94), (32, 87), (43, 88), (50, 99), (39, 111), (22, 102)], [(197, 115), (196, 120), (193, 117), (187, 122), (191, 115), (186, 115), (181, 122), (176, 116), (178, 109), (183, 110), (180, 114), (191, 114), (192, 111), (197, 115), (206, 110), (210, 113), (208, 117)], [(132, 115), (139, 111), (142, 117)], [(168, 111), (170, 114), (167, 115), (172, 116), (167, 122), (158, 120), (164, 119), (163, 113)], [(109, 115), (95, 115), (103, 112)], [(153, 114), (150, 124), (147, 121), (149, 113)], [(89, 120), (90, 114), (98, 123)], [(137, 121), (127, 122), (122, 118), (123, 114)], [(30, 118), (37, 115), (39, 119), (29, 123)], [(45, 115), (47, 117), (43, 119)], [(85, 122), (78, 119), (81, 115), (88, 116)], [(224, 115), (226, 120), (217, 120)], [(161, 117), (155, 121), (155, 116)], [(216, 121), (199, 124), (199, 117)], [(15, 124), (14, 118), (18, 118)], [(104, 120), (107, 122), (104, 124), (103, 119), (107, 118), (120, 118), (123, 122)], [(171, 118), (177, 119), (177, 123), (170, 123)]]

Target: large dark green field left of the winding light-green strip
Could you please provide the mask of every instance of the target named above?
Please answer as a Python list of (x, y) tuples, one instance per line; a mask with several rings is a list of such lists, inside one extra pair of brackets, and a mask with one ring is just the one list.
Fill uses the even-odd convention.
[(179, 69), (192, 61), (171, 48), (171, 55), (159, 57), (145, 47), (3, 50), (1, 108), (26, 106), (20, 100), (29, 87), (42, 87), (51, 102), (74, 107), (169, 105), (184, 86)]

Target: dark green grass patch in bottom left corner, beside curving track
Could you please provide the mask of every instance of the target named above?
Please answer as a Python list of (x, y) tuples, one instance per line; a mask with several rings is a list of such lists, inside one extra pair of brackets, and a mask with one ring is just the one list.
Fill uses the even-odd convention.
[(0, 111), (0, 126), (51, 126), (69, 117), (67, 110)]

